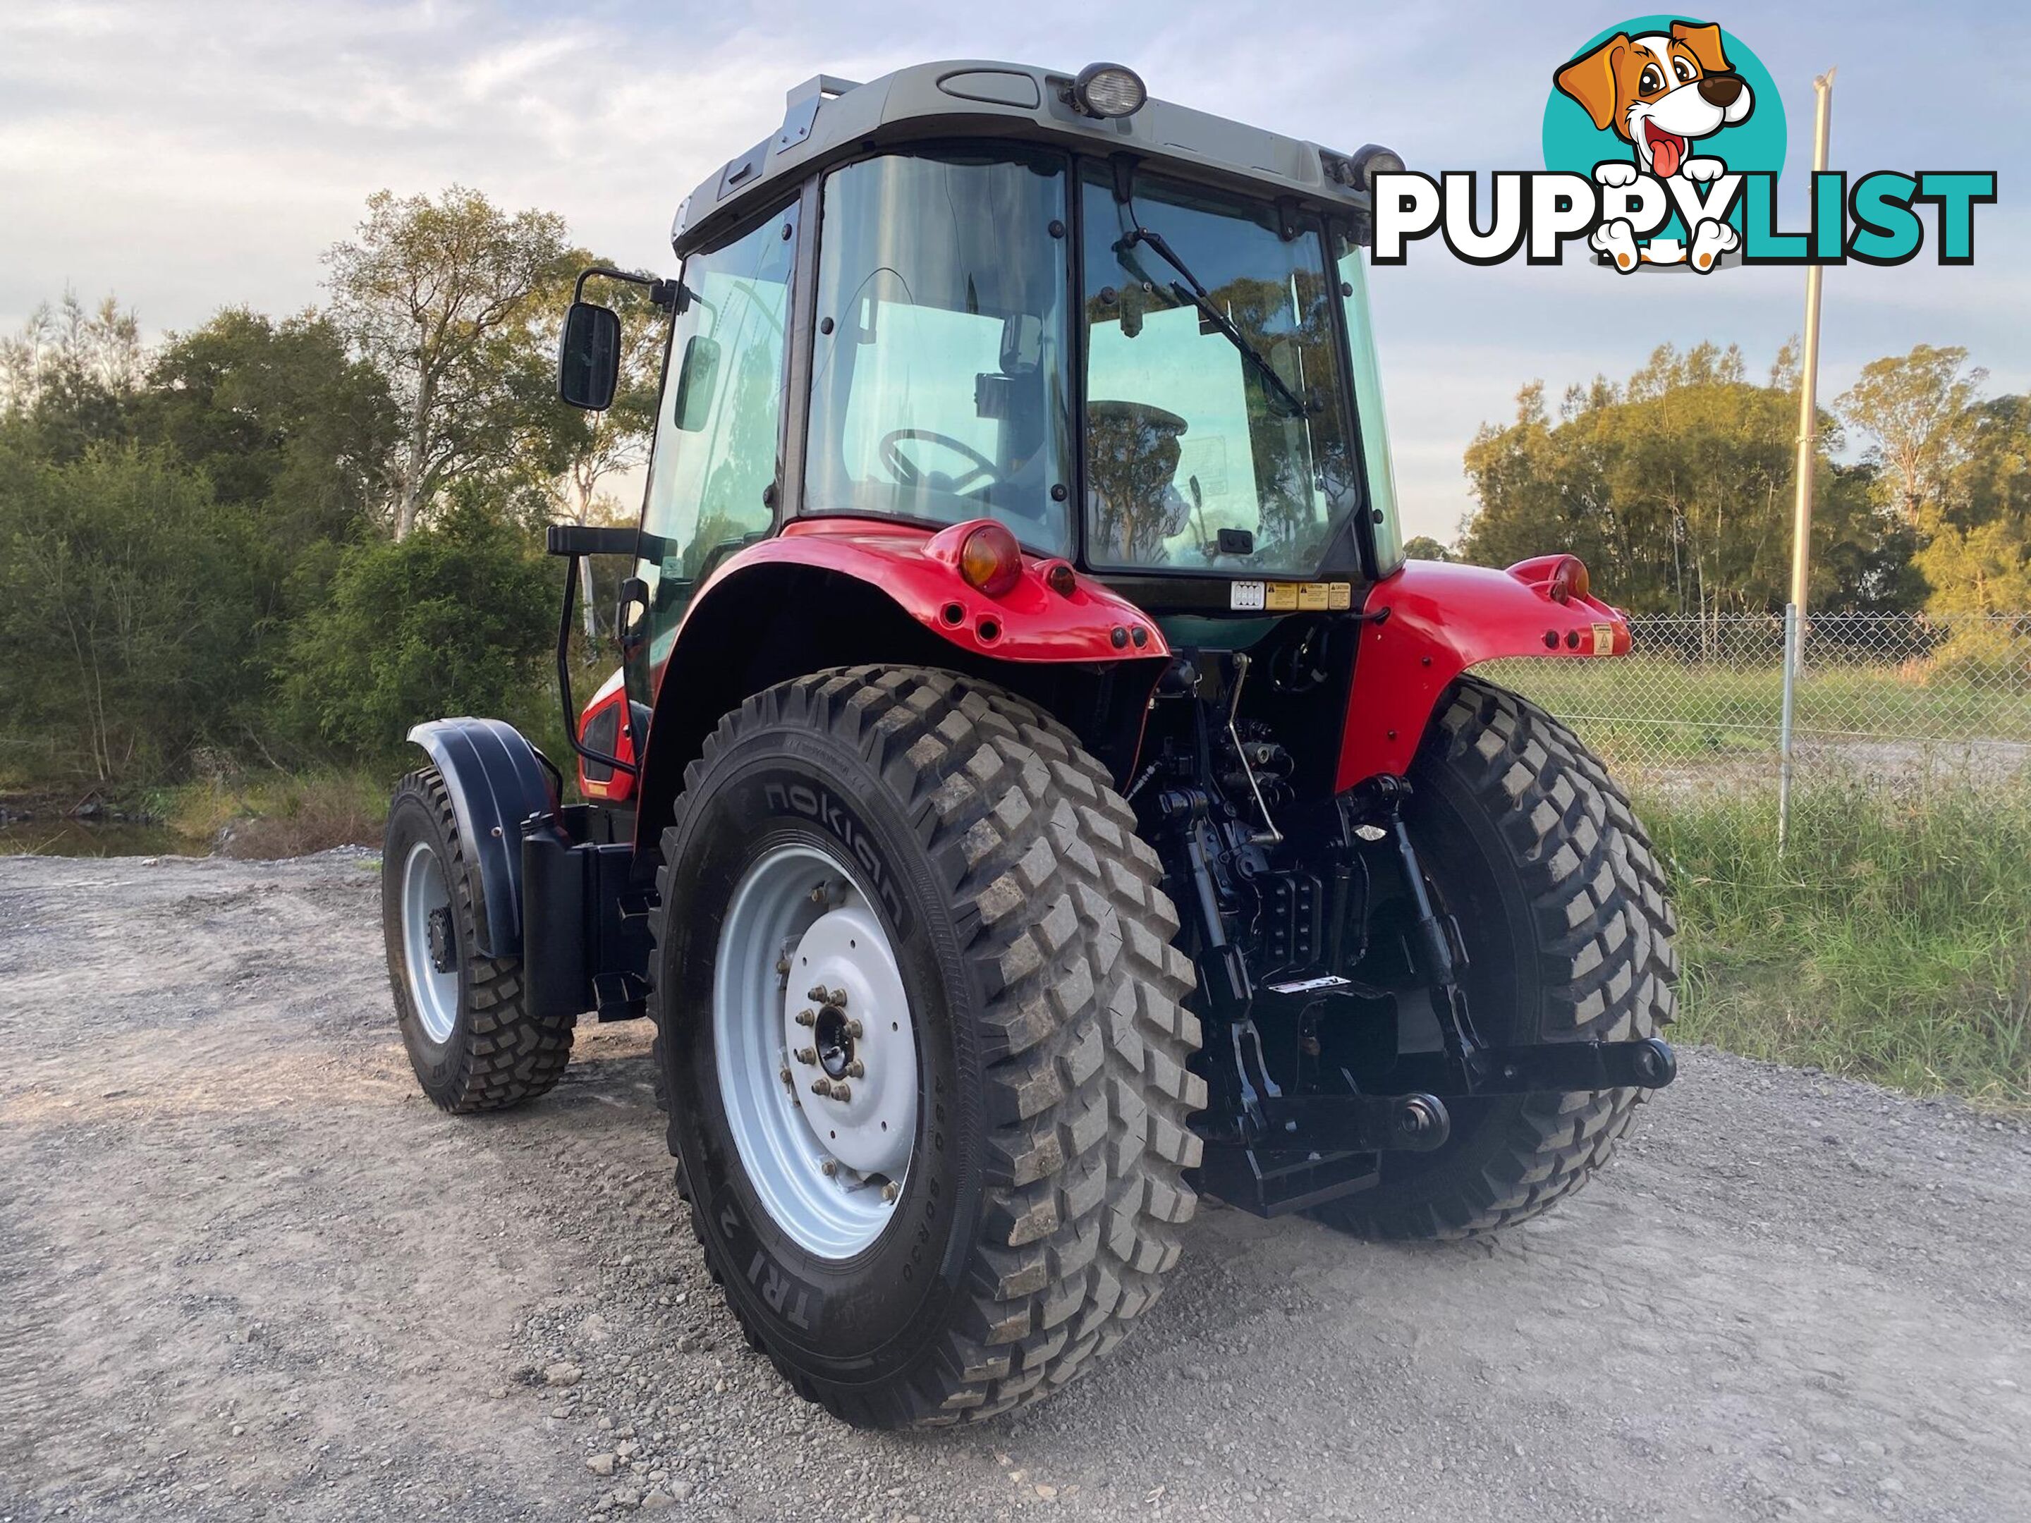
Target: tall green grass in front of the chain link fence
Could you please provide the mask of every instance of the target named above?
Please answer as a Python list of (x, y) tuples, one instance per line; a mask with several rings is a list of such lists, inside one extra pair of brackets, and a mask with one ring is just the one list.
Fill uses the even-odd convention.
[(1669, 865), (1678, 1034), (1755, 1058), (2031, 1103), (2031, 792), (1814, 784), (1637, 800)]

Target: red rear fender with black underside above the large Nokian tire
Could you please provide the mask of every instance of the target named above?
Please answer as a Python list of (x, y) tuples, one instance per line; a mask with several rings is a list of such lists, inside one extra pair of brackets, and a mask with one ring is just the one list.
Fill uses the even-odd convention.
[[(1024, 554), (989, 597), (959, 575), (981, 520), (946, 530), (863, 518), (804, 518), (721, 565), (693, 597), (656, 697), (638, 782), (636, 841), (654, 845), (719, 717), (776, 682), (831, 666), (942, 666), (999, 682), (1125, 766), (1170, 646), (1133, 603), (1085, 575), (1070, 591), (1056, 556)], [(1066, 567), (1070, 571), (1070, 567)]]

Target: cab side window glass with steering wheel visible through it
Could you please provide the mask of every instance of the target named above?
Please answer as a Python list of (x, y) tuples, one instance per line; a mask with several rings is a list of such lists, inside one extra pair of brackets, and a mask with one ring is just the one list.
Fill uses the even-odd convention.
[(806, 512), (999, 518), (1072, 548), (1064, 158), (890, 154), (825, 179)]

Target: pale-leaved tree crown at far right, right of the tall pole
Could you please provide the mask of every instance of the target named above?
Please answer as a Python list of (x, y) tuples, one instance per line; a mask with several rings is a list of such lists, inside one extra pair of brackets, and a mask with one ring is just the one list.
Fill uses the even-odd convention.
[(1962, 372), (1968, 351), (1919, 343), (1907, 355), (1862, 366), (1834, 402), (1836, 412), (1873, 443), (1895, 485), (1895, 508), (1907, 524), (1929, 530), (1927, 514), (1942, 506), (1948, 479), (1966, 459), (1968, 418), (1986, 370)]

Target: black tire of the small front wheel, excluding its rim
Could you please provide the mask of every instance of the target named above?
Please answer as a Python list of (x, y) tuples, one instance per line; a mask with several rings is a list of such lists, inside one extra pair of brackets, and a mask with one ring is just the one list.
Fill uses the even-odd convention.
[[(457, 1017), (437, 1042), (424, 1028), (402, 967), (400, 873), (416, 845), (429, 845), (445, 873), (453, 944), (459, 971)], [(522, 999), (522, 961), (479, 956), (473, 948), (483, 906), (459, 839), (459, 818), (437, 768), (410, 772), (388, 802), (382, 851), (382, 930), (388, 944), (388, 981), (422, 1092), (441, 1111), (504, 1111), (546, 1095), (571, 1062), (575, 1015), (536, 1017)]]

